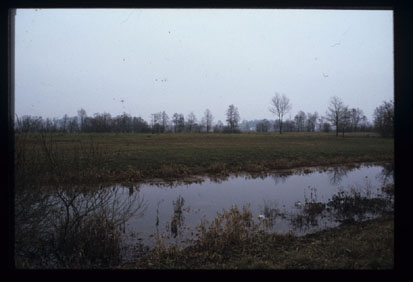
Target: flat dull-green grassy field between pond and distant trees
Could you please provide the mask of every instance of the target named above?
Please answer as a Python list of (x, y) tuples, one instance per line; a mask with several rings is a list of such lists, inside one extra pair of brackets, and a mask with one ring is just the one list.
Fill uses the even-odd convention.
[[(25, 146), (31, 152), (41, 149), (37, 134), (25, 138)], [(344, 138), (333, 133), (56, 133), (45, 137), (44, 147), (48, 146), (65, 160), (76, 154), (86, 159), (88, 154), (99, 153), (101, 161), (96, 168), (101, 167), (103, 178), (109, 181), (262, 173), (305, 166), (392, 161), (394, 155), (393, 139), (379, 138), (374, 133), (347, 134)]]

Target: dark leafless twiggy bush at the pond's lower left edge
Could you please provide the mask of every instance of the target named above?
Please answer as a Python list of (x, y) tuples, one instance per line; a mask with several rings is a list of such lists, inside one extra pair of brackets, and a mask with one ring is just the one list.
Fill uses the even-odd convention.
[(49, 187), (15, 197), (17, 268), (116, 265), (126, 255), (126, 222), (146, 208), (136, 191), (125, 197), (102, 187)]

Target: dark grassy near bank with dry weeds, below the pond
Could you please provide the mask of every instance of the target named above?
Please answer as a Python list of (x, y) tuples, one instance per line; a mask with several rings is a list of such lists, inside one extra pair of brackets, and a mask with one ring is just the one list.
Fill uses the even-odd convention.
[[(219, 220), (219, 219), (218, 219)], [(248, 214), (230, 211), (196, 245), (157, 247), (122, 268), (154, 269), (393, 269), (394, 217), (344, 224), (314, 234), (248, 235)], [(244, 229), (243, 229), (244, 228)]]

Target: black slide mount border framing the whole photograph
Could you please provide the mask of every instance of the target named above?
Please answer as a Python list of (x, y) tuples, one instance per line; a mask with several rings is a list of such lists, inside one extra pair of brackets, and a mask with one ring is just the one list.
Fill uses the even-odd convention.
[[(285, 275), (286, 278), (297, 277), (297, 275), (303, 279), (308, 279), (309, 276), (317, 274), (317, 276), (325, 277), (330, 276), (333, 279), (336, 278), (350, 278), (354, 275), (361, 276), (361, 278), (371, 279), (372, 274), (374, 278), (381, 278), (388, 280), (394, 278), (393, 275), (402, 271), (407, 271), (410, 268), (409, 255), (411, 254), (411, 234), (409, 227), (413, 225), (412, 212), (409, 209), (411, 188), (407, 184), (407, 175), (410, 172), (410, 152), (411, 145), (409, 130), (412, 128), (410, 125), (411, 117), (410, 111), (413, 109), (412, 96), (413, 91), (411, 83), (413, 82), (412, 72), (412, 19), (413, 13), (411, 7), (408, 5), (409, 1), (403, 0), (366, 0), (366, 1), (352, 1), (352, 0), (198, 0), (198, 1), (167, 1), (167, 0), (143, 0), (143, 1), (126, 1), (126, 0), (15, 0), (1, 2), (1, 37), (0, 50), (1, 50), (1, 96), (0, 96), (0, 123), (2, 127), (2, 133), (4, 136), (1, 138), (0, 150), (2, 152), (1, 168), (2, 172), (7, 172), (7, 189), (3, 186), (3, 193), (5, 194), (2, 199), (5, 203), (2, 205), (3, 212), (3, 224), (7, 222), (7, 241), (5, 248), (7, 248), (7, 257), (3, 266), (7, 265), (9, 274), (12, 274), (14, 278), (20, 278), (21, 275), (27, 276), (27, 278), (43, 278), (44, 274), (51, 277), (61, 279), (73, 279), (73, 271), (20, 271), (14, 269), (13, 263), (13, 187), (14, 187), (14, 136), (12, 131), (12, 119), (14, 115), (14, 96), (11, 95), (13, 91), (13, 77), (9, 76), (13, 69), (13, 53), (10, 45), (13, 42), (13, 22), (10, 21), (10, 13), (13, 8), (281, 8), (281, 9), (367, 9), (367, 10), (388, 10), (394, 11), (394, 74), (395, 74), (395, 183), (396, 183), (396, 219), (395, 219), (395, 268), (394, 271), (340, 271), (337, 276), (336, 271), (282, 271), (282, 272), (261, 272), (261, 271), (218, 271), (216, 274), (221, 276), (222, 274), (229, 275), (231, 278), (239, 277), (250, 278), (256, 280), (261, 274), (270, 274), (273, 279), (278, 278), (279, 274)], [(7, 147), (7, 153), (6, 148)], [(6, 157), (7, 156), (7, 157)], [(5, 178), (3, 178), (5, 179)], [(3, 232), (4, 234), (4, 232)], [(5, 253), (3, 251), (3, 253)], [(75, 272), (80, 274), (84, 278), (96, 277), (94, 271), (79, 271)], [(131, 274), (130, 271), (102, 271), (100, 274), (105, 278), (120, 278), (119, 274)], [(133, 271), (133, 274), (136, 272)], [(201, 278), (199, 274), (204, 276), (205, 274), (211, 274), (215, 271), (186, 271), (186, 274), (194, 274), (194, 278)], [(139, 274), (148, 274), (150, 279), (155, 278), (154, 274), (168, 275), (169, 274), (182, 274), (179, 271), (139, 271)], [(321, 275), (320, 275), (321, 274)], [(274, 276), (275, 275), (275, 276)], [(168, 277), (166, 276), (166, 277)], [(10, 276), (9, 276), (10, 277)], [(141, 276), (135, 276), (136, 278), (142, 278)], [(148, 277), (148, 278), (149, 278)]]

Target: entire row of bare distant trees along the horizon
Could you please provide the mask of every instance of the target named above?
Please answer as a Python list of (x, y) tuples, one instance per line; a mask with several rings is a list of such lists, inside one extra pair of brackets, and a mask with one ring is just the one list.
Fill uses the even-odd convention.
[[(277, 100), (278, 99), (278, 100)], [(226, 124), (222, 121), (214, 123), (209, 109), (198, 119), (191, 112), (187, 116), (174, 113), (169, 116), (165, 111), (153, 113), (150, 121), (127, 113), (112, 117), (110, 113), (95, 113), (88, 116), (84, 109), (77, 116), (62, 118), (46, 118), (40, 116), (16, 116), (17, 132), (114, 132), (114, 133), (239, 133), (239, 132), (330, 132), (335, 131), (344, 136), (345, 132), (376, 131), (382, 136), (393, 136), (394, 105), (384, 102), (374, 112), (374, 121), (370, 123), (359, 108), (346, 106), (339, 98), (332, 97), (328, 111), (324, 116), (317, 112), (299, 111), (294, 118), (283, 120), (283, 116), (291, 109), (289, 100), (283, 95), (274, 96), (270, 112), (276, 120), (243, 120), (240, 122), (238, 109), (230, 105), (226, 111)], [(277, 102), (284, 103), (283, 106)], [(278, 109), (277, 109), (278, 107)]]

